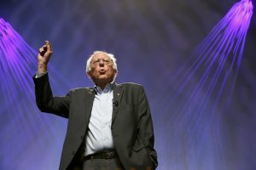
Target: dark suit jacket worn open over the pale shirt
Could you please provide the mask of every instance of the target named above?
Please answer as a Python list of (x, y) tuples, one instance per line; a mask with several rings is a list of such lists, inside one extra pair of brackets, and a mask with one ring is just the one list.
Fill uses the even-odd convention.
[[(33, 77), (40, 111), (68, 118), (60, 169), (73, 169), (73, 161), (84, 151), (84, 136), (90, 121), (94, 88), (76, 88), (66, 96), (54, 97), (48, 74)], [(157, 167), (153, 123), (143, 86), (134, 83), (113, 85), (113, 143), (126, 170)]]

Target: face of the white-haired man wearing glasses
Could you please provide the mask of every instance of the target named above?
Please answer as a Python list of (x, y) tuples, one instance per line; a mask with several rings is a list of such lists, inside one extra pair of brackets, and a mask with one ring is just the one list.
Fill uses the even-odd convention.
[(113, 61), (105, 53), (96, 53), (90, 61), (89, 77), (96, 85), (107, 84), (113, 81), (116, 71), (113, 70)]

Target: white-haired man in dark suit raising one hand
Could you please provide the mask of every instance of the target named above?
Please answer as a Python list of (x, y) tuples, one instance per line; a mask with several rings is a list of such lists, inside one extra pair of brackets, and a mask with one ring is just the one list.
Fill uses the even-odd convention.
[(68, 118), (60, 169), (155, 169), (153, 123), (143, 86), (116, 84), (113, 54), (96, 51), (86, 65), (95, 87), (75, 88), (66, 96), (54, 97), (47, 72), (51, 54), (46, 41), (39, 48), (33, 81), (40, 111)]

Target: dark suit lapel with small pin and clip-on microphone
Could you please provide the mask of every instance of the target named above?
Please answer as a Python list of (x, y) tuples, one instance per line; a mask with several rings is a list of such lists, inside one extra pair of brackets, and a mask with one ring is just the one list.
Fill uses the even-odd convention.
[(119, 112), (119, 105), (123, 95), (122, 85), (113, 83), (113, 114), (112, 114), (112, 125), (115, 117)]

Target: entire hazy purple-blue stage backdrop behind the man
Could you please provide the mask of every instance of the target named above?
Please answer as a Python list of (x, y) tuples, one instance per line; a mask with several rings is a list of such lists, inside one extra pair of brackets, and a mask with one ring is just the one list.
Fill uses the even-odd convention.
[[(116, 56), (116, 82), (143, 84), (159, 170), (256, 169), (255, 14), (244, 31), (241, 63), (236, 59), (234, 69), (233, 49), (226, 60), (214, 52), (220, 58), (214, 61), (217, 70), (211, 71), (210, 54), (204, 54), (209, 60), (201, 65), (192, 55), (206, 50), (207, 42), (226, 49), (218, 47), (224, 34), (214, 45), (209, 33), (238, 2), (1, 0), (0, 169), (58, 169), (67, 120), (40, 113), (33, 95), (37, 50), (45, 40), (54, 51), (49, 80), (55, 95), (93, 86), (84, 69), (95, 50)], [(245, 21), (236, 20), (235, 28)], [(214, 77), (220, 61), (224, 65), (219, 77), (230, 75), (229, 82)], [(198, 70), (191, 70), (196, 65)], [(211, 83), (200, 88), (203, 80)]]

